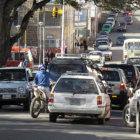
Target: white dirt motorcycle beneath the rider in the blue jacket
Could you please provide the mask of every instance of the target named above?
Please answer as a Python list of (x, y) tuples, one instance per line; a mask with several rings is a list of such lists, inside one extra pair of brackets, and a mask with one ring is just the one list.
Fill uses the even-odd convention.
[[(51, 90), (51, 86), (50, 86)], [(48, 97), (47, 93), (37, 86), (34, 87), (34, 98), (30, 104), (30, 115), (32, 118), (37, 118), (41, 112), (41, 110), (45, 110), (48, 112)]]

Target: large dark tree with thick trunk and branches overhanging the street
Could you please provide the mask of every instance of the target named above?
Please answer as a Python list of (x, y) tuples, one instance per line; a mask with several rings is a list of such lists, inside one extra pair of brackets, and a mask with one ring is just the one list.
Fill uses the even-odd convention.
[[(0, 66), (5, 65), (7, 58), (10, 57), (11, 47), (20, 38), (29, 23), (30, 18), (34, 12), (39, 8), (41, 9), (45, 4), (51, 0), (30, 0), (32, 2), (31, 9), (23, 17), (20, 29), (14, 36), (10, 36), (11, 26), (13, 21), (16, 19), (17, 9), (28, 0), (1, 0), (0, 1)], [(85, 0), (91, 1), (91, 0)], [(97, 6), (108, 6), (112, 7), (116, 5), (118, 1), (122, 0), (93, 0)], [(117, 1), (117, 2), (116, 2)], [(126, 4), (128, 0), (123, 0), (122, 5)], [(129, 2), (132, 0), (129, 0)], [(63, 0), (56, 0), (57, 3), (63, 3)], [(75, 8), (80, 8), (76, 0), (64, 0), (65, 4), (69, 4)], [(123, 7), (123, 6), (121, 6)]]

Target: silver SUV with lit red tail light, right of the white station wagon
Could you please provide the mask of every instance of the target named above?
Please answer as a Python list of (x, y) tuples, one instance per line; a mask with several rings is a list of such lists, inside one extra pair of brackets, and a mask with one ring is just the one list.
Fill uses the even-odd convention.
[(128, 101), (127, 79), (122, 69), (118, 68), (102, 68), (103, 79), (111, 85), (109, 92), (111, 103), (120, 105), (123, 109)]

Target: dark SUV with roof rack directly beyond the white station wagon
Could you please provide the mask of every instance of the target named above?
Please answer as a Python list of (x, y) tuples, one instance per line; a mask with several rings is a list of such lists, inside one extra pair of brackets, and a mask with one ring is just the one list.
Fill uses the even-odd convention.
[(87, 60), (80, 58), (80, 56), (78, 57), (78, 55), (76, 57), (71, 55), (63, 58), (56, 58), (48, 65), (48, 69), (56, 78), (59, 78), (67, 71), (78, 73), (88, 72)]

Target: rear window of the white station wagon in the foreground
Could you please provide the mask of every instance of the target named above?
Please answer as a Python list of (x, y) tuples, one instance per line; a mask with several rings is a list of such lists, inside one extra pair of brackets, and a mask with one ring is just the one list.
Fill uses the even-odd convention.
[(73, 94), (98, 94), (98, 90), (94, 80), (77, 78), (61, 78), (58, 81), (54, 92), (72, 92)]

